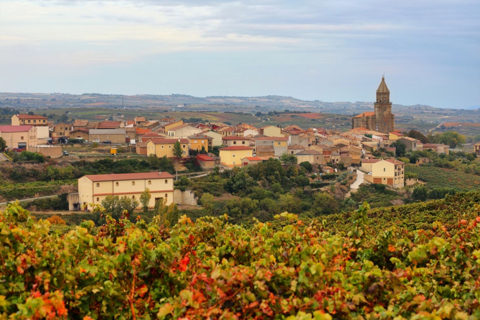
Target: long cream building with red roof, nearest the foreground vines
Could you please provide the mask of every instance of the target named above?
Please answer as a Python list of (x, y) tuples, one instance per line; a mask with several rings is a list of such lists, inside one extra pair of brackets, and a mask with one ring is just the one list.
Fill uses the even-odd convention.
[(93, 204), (101, 204), (108, 195), (140, 198), (140, 194), (150, 190), (149, 207), (158, 200), (173, 202), (173, 176), (168, 172), (119, 173), (108, 175), (87, 175), (78, 179), (78, 196), (81, 207), (93, 209)]

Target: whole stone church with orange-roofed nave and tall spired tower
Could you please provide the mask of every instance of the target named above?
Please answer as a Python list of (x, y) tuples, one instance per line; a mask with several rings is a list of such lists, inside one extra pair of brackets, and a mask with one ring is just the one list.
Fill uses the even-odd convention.
[(374, 103), (375, 111), (363, 112), (352, 118), (352, 129), (367, 128), (388, 134), (395, 131), (395, 116), (392, 114), (390, 91), (382, 77), (377, 89), (377, 100)]

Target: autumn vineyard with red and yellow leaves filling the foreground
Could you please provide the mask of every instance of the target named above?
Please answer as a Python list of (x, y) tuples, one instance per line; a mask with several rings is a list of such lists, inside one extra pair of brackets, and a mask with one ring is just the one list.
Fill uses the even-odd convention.
[(325, 221), (282, 213), (280, 229), (246, 229), (226, 216), (195, 223), (183, 216), (168, 229), (156, 218), (133, 224), (107, 215), (100, 228), (84, 221), (61, 235), (12, 204), (0, 213), (0, 315), (479, 319), (479, 197), (449, 198), (465, 208), (451, 215), (451, 228), (372, 228), (383, 222), (365, 204), (337, 233)]

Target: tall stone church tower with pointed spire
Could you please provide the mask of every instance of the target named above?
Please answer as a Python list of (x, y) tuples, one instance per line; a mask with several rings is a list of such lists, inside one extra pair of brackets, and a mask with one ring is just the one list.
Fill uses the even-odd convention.
[(390, 90), (388, 90), (385, 78), (377, 89), (377, 100), (373, 104), (375, 107), (376, 128), (379, 131), (388, 134), (395, 130), (395, 116), (392, 114), (392, 103), (390, 102)]

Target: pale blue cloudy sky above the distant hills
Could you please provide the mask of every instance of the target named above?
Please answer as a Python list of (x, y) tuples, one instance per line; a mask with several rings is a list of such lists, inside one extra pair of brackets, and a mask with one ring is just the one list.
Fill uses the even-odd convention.
[(0, 92), (480, 106), (478, 0), (0, 0)]

